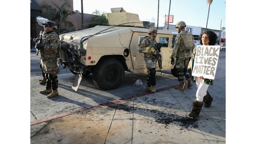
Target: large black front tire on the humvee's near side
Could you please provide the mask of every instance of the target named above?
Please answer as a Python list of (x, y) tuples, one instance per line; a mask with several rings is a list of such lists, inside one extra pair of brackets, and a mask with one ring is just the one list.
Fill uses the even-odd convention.
[(103, 59), (93, 69), (93, 82), (103, 90), (116, 89), (124, 79), (124, 66), (116, 59)]

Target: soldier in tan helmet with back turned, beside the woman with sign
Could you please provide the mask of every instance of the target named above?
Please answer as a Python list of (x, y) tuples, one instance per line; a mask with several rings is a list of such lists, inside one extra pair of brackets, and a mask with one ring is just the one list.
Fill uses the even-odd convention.
[[(189, 59), (192, 56), (192, 50), (196, 47), (194, 36), (185, 31), (186, 23), (184, 21), (178, 22), (175, 27), (177, 28), (178, 35), (175, 38), (173, 52), (171, 55), (171, 64), (174, 65), (174, 58), (176, 58), (175, 67), (178, 71), (178, 80), (180, 86), (175, 86), (175, 89), (182, 90), (184, 85), (184, 76), (187, 73)], [(188, 80), (188, 87), (193, 86), (191, 80)]]

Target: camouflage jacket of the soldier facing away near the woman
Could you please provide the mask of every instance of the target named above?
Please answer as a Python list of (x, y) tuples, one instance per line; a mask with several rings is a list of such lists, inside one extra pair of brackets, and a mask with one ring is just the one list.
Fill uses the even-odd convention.
[[(172, 51), (171, 58), (188, 58), (192, 56), (192, 50), (196, 47), (194, 37), (190, 32), (187, 32), (186, 37), (191, 37), (193, 46), (190, 49), (187, 49), (183, 43), (183, 38), (186, 34), (185, 30), (182, 30), (175, 38), (174, 47)], [(191, 35), (191, 36), (190, 36)]]

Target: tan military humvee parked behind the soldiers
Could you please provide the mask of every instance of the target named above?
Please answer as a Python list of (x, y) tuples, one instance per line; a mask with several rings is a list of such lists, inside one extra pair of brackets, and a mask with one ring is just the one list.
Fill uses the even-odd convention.
[[(93, 74), (96, 86), (103, 90), (117, 88), (124, 79), (124, 71), (147, 72), (141, 41), (148, 37), (139, 16), (122, 8), (112, 8), (107, 13), (112, 26), (96, 26), (60, 35), (59, 63), (76, 75), (72, 88), (78, 89), (82, 76)], [(162, 70), (173, 69), (171, 31), (158, 30), (156, 41), (161, 44)], [(158, 63), (156, 70), (159, 70)]]

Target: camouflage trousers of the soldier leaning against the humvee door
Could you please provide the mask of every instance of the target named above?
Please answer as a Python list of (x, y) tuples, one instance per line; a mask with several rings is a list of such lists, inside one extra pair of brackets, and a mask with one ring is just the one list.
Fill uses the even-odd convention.
[(151, 76), (150, 75), (150, 70), (152, 68), (156, 68), (156, 62), (153, 62), (152, 60), (145, 60), (145, 63), (146, 63), (146, 67), (148, 69), (148, 76), (147, 76), (147, 84), (149, 87), (151, 87), (151, 84), (155, 85), (156, 83), (156, 77), (155, 76)]

